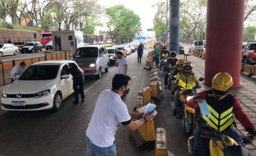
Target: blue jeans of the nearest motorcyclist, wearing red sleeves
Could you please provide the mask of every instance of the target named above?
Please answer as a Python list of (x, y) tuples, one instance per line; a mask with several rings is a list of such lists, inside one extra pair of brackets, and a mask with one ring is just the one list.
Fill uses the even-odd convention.
[[(209, 142), (210, 140), (208, 138), (204, 138), (201, 136), (205, 136), (206, 134), (201, 132), (202, 128), (197, 127), (195, 129), (195, 143), (193, 148), (193, 156), (210, 156), (210, 150), (209, 150)], [(225, 133), (231, 133), (235, 135), (239, 135), (233, 128), (230, 128), (229, 130), (226, 130)], [(229, 136), (229, 135), (227, 135)], [(240, 142), (239, 136), (233, 136), (230, 135), (232, 139), (234, 139), (237, 143)]]

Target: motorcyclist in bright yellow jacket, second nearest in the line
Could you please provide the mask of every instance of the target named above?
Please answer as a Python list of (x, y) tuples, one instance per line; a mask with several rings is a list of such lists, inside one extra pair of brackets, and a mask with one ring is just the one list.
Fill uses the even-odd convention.
[[(179, 103), (179, 93), (180, 91), (187, 90), (187, 89), (192, 89), (193, 85), (195, 85), (198, 88), (201, 88), (199, 85), (199, 80), (198, 77), (195, 75), (194, 72), (192, 72), (192, 62), (186, 61), (183, 64), (183, 71), (180, 71), (176, 76), (176, 82), (174, 81), (173, 83), (177, 85), (177, 90), (175, 91), (174, 97), (173, 97), (173, 115), (176, 116), (177, 114), (177, 106)], [(175, 87), (175, 86), (174, 86)]]

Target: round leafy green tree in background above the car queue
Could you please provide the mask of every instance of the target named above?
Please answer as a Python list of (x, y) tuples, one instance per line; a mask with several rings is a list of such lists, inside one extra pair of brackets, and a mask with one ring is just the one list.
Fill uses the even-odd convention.
[(113, 34), (112, 40), (116, 39), (119, 42), (131, 40), (136, 33), (141, 31), (140, 17), (123, 5), (107, 8), (106, 14), (109, 18), (107, 25), (110, 34)]

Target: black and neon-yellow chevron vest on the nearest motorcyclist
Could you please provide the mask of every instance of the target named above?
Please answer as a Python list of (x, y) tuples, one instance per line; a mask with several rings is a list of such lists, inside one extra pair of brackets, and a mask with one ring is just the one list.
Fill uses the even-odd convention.
[(209, 123), (210, 127), (218, 131), (223, 131), (226, 128), (229, 128), (234, 122), (232, 116), (234, 100), (232, 99), (232, 96), (225, 97), (227, 99), (224, 100), (214, 101), (217, 99), (214, 99), (213, 94), (211, 94), (212, 92), (207, 92), (208, 95), (206, 101), (211, 114), (208, 117), (202, 116), (202, 118)]

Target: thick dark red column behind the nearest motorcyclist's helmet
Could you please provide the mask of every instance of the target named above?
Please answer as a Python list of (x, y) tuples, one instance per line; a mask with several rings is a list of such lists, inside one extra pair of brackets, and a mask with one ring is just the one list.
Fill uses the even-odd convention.
[(233, 88), (239, 88), (243, 29), (244, 0), (208, 0), (205, 85), (226, 72), (233, 77)]

